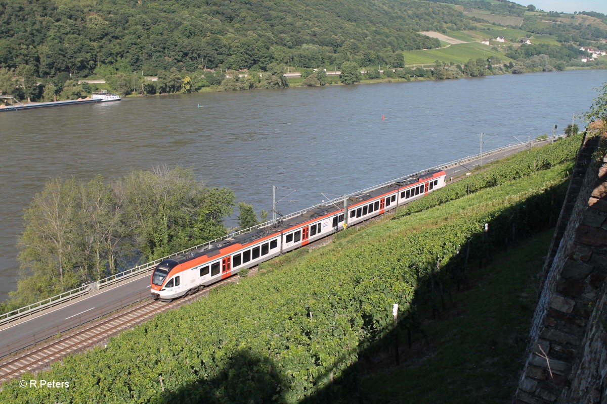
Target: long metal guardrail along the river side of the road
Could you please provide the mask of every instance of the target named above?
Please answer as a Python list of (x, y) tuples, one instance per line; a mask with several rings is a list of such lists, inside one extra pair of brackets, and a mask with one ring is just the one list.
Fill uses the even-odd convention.
[[(563, 134), (563, 135), (559, 135), (557, 137), (560, 138), (560, 137), (564, 137), (564, 136), (565, 135)], [(544, 141), (549, 142), (549, 141), (551, 141), (551, 139), (548, 138), (548, 139), (545, 139)], [(361, 190), (361, 191), (356, 191), (356, 192), (347, 194), (347, 195), (345, 195), (345, 197), (357, 196), (357, 195), (369, 193), (378, 188), (385, 187), (386, 185), (393, 184), (394, 182), (397, 182), (397, 181), (402, 181), (404, 179), (408, 179), (410, 177), (416, 176), (418, 174), (424, 173), (429, 170), (443, 170), (444, 168), (452, 167), (453, 165), (462, 164), (462, 163), (465, 163), (465, 162), (468, 162), (471, 160), (475, 160), (475, 159), (480, 159), (480, 157), (490, 156), (492, 154), (500, 153), (501, 151), (510, 150), (512, 148), (521, 147), (526, 144), (529, 144), (529, 142), (520, 142), (520, 143), (515, 143), (515, 144), (509, 144), (504, 147), (486, 151), (483, 154), (478, 153), (478, 154), (474, 154), (473, 156), (466, 156), (463, 159), (453, 160), (453, 161), (450, 161), (450, 162), (447, 162), (444, 164), (436, 165), (435, 167), (430, 167), (430, 168), (426, 168), (421, 171), (416, 171), (415, 173), (408, 174), (406, 176), (402, 176), (402, 177), (399, 177), (399, 178), (391, 180), (391, 181), (383, 182), (382, 184), (378, 184), (378, 185), (375, 185), (370, 188), (365, 188), (364, 190)], [(339, 202), (341, 200), (343, 200), (343, 197), (332, 199), (332, 200), (329, 200), (322, 204), (313, 205), (309, 208), (305, 208), (305, 209), (296, 211), (294, 213), (287, 214), (286, 216), (282, 216), (281, 219), (289, 219), (291, 217), (299, 216), (300, 214), (305, 213), (314, 208), (335, 204), (336, 202)], [(98, 280), (97, 282), (90, 282), (90, 283), (84, 284), (80, 288), (76, 288), (76, 289), (58, 294), (53, 297), (49, 297), (48, 299), (44, 299), (44, 300), (41, 300), (40, 302), (32, 303), (31, 305), (27, 305), (22, 308), (18, 308), (17, 310), (9, 311), (8, 313), (0, 314), (0, 326), (8, 324), (8, 323), (16, 321), (16, 320), (19, 320), (19, 319), (22, 319), (23, 317), (32, 316), (32, 314), (39, 313), (40, 311), (46, 310), (48, 308), (52, 308), (53, 306), (60, 305), (64, 302), (68, 302), (69, 300), (77, 299), (78, 297), (84, 296), (87, 293), (90, 293), (93, 291), (98, 291), (98, 290), (101, 290), (104, 288), (108, 288), (109, 286), (112, 286), (115, 283), (119, 283), (123, 280), (131, 279), (132, 277), (146, 273), (146, 272), (152, 270), (153, 268), (155, 268), (156, 265), (158, 265), (158, 263), (160, 263), (164, 259), (178, 256), (179, 254), (183, 254), (183, 253), (188, 253), (189, 251), (196, 250), (198, 248), (208, 247), (209, 245), (211, 245), (213, 243), (221, 242), (223, 240), (228, 240), (234, 236), (238, 236), (239, 234), (247, 233), (248, 231), (256, 230), (256, 229), (263, 228), (263, 227), (268, 227), (272, 224), (273, 224), (273, 222), (271, 220), (269, 220), (267, 222), (263, 222), (262, 224), (259, 224), (259, 225), (253, 226), (253, 227), (235, 231), (233, 233), (226, 234), (225, 236), (220, 237), (219, 239), (215, 239), (215, 240), (197, 245), (195, 247), (187, 248), (186, 250), (179, 251), (178, 253), (173, 253), (166, 257), (162, 257), (162, 258), (156, 259), (154, 261), (147, 262), (142, 265), (138, 265), (137, 267), (129, 268), (128, 270), (122, 271), (120, 273), (110, 275), (104, 279)]]

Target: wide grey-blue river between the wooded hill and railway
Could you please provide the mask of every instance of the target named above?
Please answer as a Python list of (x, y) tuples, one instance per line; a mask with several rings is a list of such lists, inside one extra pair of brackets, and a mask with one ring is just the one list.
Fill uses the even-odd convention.
[[(607, 70), (123, 99), (0, 113), (0, 301), (16, 288), (22, 210), (55, 176), (181, 164), (283, 214), (484, 150), (557, 133)], [(576, 121), (580, 124), (580, 119)], [(580, 127), (583, 125), (580, 124)], [(235, 215), (236, 216), (236, 215)], [(233, 223), (233, 219), (232, 222)]]

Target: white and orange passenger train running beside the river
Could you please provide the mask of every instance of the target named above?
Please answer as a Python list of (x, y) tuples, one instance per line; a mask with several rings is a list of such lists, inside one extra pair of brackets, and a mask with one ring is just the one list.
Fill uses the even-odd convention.
[(443, 170), (425, 171), (164, 259), (152, 272), (152, 298), (168, 302), (195, 293), (245, 268), (419, 199), (444, 187), (446, 179)]

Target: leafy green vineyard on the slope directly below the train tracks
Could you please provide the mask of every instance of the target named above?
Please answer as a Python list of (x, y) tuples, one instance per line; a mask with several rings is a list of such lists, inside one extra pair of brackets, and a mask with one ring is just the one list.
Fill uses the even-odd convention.
[[(485, 257), (514, 227), (532, 233), (558, 216), (571, 164), (557, 161), (571, 158), (564, 146), (571, 142), (573, 150), (579, 137), (561, 142), (543, 148), (543, 157), (533, 154), (536, 164), (528, 167), (535, 171), (500, 174), (498, 165), (484, 180), (468, 179), (459, 199), (443, 196), (430, 210), (350, 228), (325, 247), (278, 257), (257, 276), (157, 316), (105, 349), (22, 377), (69, 382), (68, 389), (24, 389), (14, 380), (2, 386), (0, 402), (339, 402), (358, 384), (351, 370), (359, 353), (390, 333), (393, 303), (406, 319), (431, 279), (465, 277), (468, 256)], [(451, 187), (447, 195), (462, 194), (462, 185)]]

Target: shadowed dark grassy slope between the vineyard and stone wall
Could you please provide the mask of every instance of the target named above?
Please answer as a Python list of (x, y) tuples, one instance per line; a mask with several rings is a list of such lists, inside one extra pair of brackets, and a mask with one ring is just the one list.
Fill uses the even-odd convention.
[[(537, 274), (552, 231), (495, 257), (471, 273), (473, 287), (453, 294), (444, 320), (427, 320), (422, 340), (389, 366), (362, 380), (373, 403), (505, 403), (514, 394), (537, 295)], [(515, 274), (515, 276), (513, 276)], [(429, 306), (424, 307), (428, 312)], [(427, 313), (430, 317), (430, 313)], [(421, 359), (420, 359), (421, 358)], [(387, 363), (388, 365), (388, 363)]]

